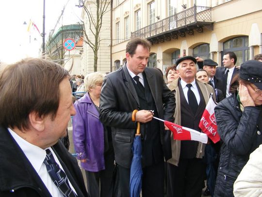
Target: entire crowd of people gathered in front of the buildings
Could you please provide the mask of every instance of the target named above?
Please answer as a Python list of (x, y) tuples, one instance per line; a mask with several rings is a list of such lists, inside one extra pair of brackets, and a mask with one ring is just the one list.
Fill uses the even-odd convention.
[[(72, 79), (37, 58), (1, 68), (0, 196), (129, 197), (138, 122), (143, 197), (201, 197), (205, 180), (206, 196), (261, 196), (262, 54), (240, 68), (234, 52), (224, 54), (223, 66), (180, 57), (165, 70), (165, 82), (147, 67), (150, 47), (131, 39), (125, 64), (106, 76)], [(202, 132), (210, 96), (219, 142), (173, 139), (153, 118)], [(76, 158), (61, 141), (72, 116)]]

